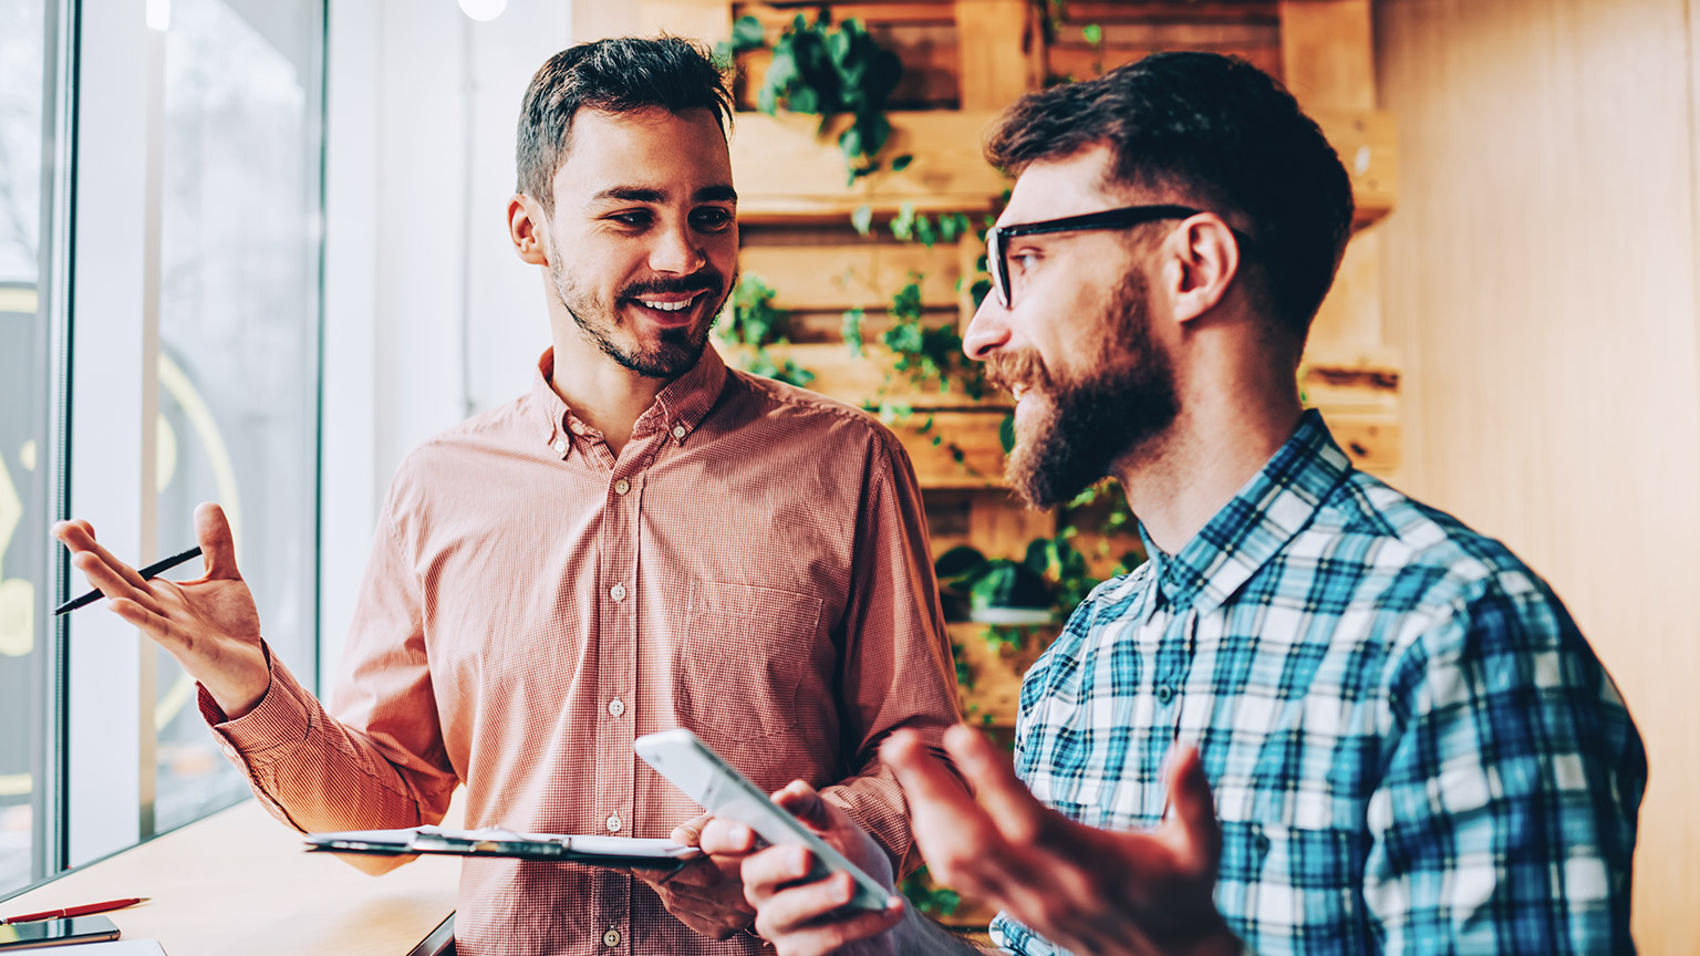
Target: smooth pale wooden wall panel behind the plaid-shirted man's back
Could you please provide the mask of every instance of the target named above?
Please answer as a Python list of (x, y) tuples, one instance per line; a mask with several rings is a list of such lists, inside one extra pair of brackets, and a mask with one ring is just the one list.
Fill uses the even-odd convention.
[(1379, 0), (1386, 325), (1409, 492), (1566, 600), (1651, 759), (1642, 953), (1700, 939), (1695, 20), (1685, 0)]

